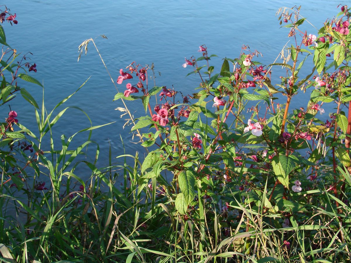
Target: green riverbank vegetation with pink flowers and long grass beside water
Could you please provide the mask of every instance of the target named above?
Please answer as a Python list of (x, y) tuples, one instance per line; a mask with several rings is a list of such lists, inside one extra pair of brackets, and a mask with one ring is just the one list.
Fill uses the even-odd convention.
[[(87, 128), (54, 144), (74, 93), (48, 109), (44, 95), (37, 102), (24, 88), (42, 87), (37, 65), (7, 43), (4, 28), (18, 22), (2, 6), (0, 106), (10, 110), (0, 127), (1, 260), (350, 262), (350, 8), (340, 5), (318, 32), (303, 29), (299, 11), (279, 10), (293, 45), (270, 65), (243, 46), (215, 68), (220, 59), (201, 45), (179, 63), (199, 77), (189, 94), (156, 86), (153, 66), (135, 61), (110, 73), (100, 56), (123, 89), (111, 98), (131, 129), (122, 143), (143, 147), (113, 156), (91, 140), (112, 123), (92, 126), (89, 117)], [(99, 53), (95, 41), (79, 46), (79, 59), (88, 45)], [(16, 96), (33, 106), (37, 130), (11, 108)], [(294, 108), (299, 96), (309, 102)], [(133, 100), (143, 112), (131, 113)], [(77, 136), (86, 137), (79, 146)], [(100, 151), (110, 152), (108, 167), (98, 166)]]

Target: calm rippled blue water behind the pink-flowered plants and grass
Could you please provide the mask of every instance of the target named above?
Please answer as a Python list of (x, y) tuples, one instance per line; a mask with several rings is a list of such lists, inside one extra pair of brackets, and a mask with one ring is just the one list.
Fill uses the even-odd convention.
[[(167, 86), (191, 94), (198, 87), (196, 76), (185, 77), (191, 69), (181, 67), (184, 57), (200, 56), (200, 45), (206, 44), (210, 54), (218, 59), (211, 61), (219, 70), (220, 58), (236, 58), (243, 44), (257, 49), (264, 56), (263, 65), (272, 63), (287, 41), (289, 29), (280, 28), (275, 16), (279, 7), (302, 5), (301, 15), (318, 29), (327, 18), (339, 12), (339, 1), (4, 1), (17, 14), (18, 25), (5, 25), (7, 42), (18, 52), (33, 53), (32, 62), (37, 73), (31, 73), (45, 86), (48, 110), (65, 96), (74, 92), (89, 76), (87, 84), (66, 106), (82, 108), (92, 119), (93, 125), (115, 121), (114, 124), (93, 132), (93, 139), (100, 145), (100, 166), (108, 165), (108, 146), (112, 156), (123, 153), (120, 136), (127, 154), (135, 154), (140, 146), (131, 143), (130, 126), (122, 129), (124, 118), (115, 110), (121, 101), (113, 102), (117, 93), (93, 45), (89, 44), (87, 56), (79, 63), (78, 46), (89, 38), (96, 44), (114, 80), (119, 69), (136, 61), (141, 65), (154, 63), (156, 85)], [(307, 34), (317, 35), (317, 29), (307, 22)], [(104, 34), (108, 39), (102, 39)], [(278, 73), (277, 73), (278, 74)], [(278, 79), (279, 75), (273, 78)], [(41, 88), (22, 83), (40, 101)], [(125, 85), (118, 86), (120, 92)], [(292, 107), (306, 107), (309, 97), (293, 102)], [(139, 103), (139, 102), (138, 102)], [(39, 103), (40, 104), (40, 103)], [(128, 103), (134, 117), (145, 112), (141, 104)], [(19, 97), (11, 102), (19, 121), (35, 129), (34, 110)], [(8, 107), (0, 114), (5, 118)], [(55, 148), (59, 148), (61, 134), (70, 136), (89, 126), (84, 114), (70, 109), (54, 129)], [(48, 140), (48, 137), (47, 137)], [(83, 139), (81, 141), (84, 141)], [(81, 141), (74, 141), (78, 145)], [(48, 143), (48, 141), (44, 142)], [(82, 175), (84, 177), (84, 175)]]

